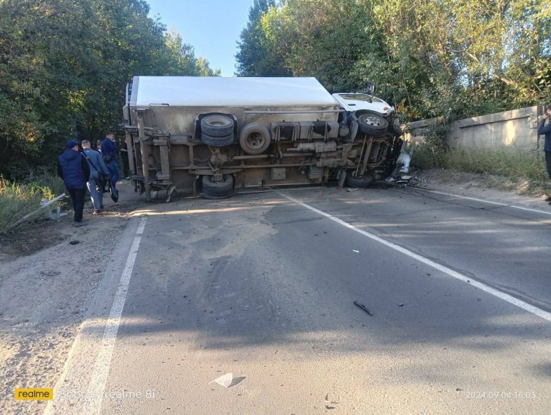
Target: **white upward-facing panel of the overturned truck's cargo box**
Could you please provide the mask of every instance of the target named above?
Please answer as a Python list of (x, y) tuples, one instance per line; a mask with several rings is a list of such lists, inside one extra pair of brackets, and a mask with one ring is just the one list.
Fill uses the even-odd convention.
[(336, 106), (316, 78), (222, 78), (220, 76), (134, 76), (132, 107)]

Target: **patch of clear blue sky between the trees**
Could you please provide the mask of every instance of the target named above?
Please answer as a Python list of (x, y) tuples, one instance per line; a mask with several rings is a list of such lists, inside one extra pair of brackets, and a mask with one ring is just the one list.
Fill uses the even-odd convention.
[(147, 0), (149, 15), (160, 15), (167, 28), (174, 27), (185, 43), (195, 48), (222, 76), (233, 76), (239, 35), (253, 0)]

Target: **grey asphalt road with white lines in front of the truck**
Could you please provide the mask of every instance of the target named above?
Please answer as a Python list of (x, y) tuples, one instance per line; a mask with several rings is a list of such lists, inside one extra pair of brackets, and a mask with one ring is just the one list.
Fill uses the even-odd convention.
[(551, 413), (551, 215), (415, 189), (143, 213), (56, 389), (98, 393), (57, 413)]

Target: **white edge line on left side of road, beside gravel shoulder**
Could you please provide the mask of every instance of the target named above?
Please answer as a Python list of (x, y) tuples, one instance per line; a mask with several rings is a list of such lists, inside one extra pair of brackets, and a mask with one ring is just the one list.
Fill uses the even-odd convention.
[(125, 268), (123, 269), (123, 275), (121, 275), (121, 281), (118, 283), (115, 299), (107, 323), (105, 323), (105, 331), (103, 332), (103, 339), (101, 341), (101, 349), (96, 357), (96, 365), (90, 386), (88, 387), (87, 396), (91, 396), (92, 399), (87, 401), (85, 406), (85, 414), (99, 414), (101, 411), (101, 405), (103, 403), (103, 391), (105, 390), (105, 384), (107, 383), (107, 376), (109, 375), (109, 367), (111, 359), (113, 357), (113, 349), (115, 347), (116, 334), (118, 332), (118, 326), (121, 323), (121, 315), (123, 314), (123, 308), (126, 301), (126, 293), (128, 291), (128, 285), (130, 283), (130, 277), (132, 277), (132, 270), (134, 269), (134, 262), (136, 261), (136, 255), (138, 254), (138, 248), (140, 247), (141, 235), (145, 228), (145, 222), (147, 216), (143, 216), (141, 222), (136, 230), (136, 236), (134, 236), (134, 242), (128, 253), (126, 259)]

